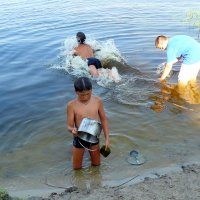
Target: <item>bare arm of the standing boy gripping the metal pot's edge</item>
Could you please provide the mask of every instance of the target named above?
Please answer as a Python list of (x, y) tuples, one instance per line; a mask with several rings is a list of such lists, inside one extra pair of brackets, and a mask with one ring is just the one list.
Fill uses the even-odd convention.
[(67, 104), (67, 129), (76, 136), (78, 131), (75, 127), (75, 115), (74, 115), (74, 109), (73, 109), (73, 103), (69, 102)]

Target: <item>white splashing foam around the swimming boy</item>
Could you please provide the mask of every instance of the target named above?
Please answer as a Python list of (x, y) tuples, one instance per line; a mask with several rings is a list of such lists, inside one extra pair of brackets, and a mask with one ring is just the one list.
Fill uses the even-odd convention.
[[(104, 42), (98, 42), (95, 39), (87, 38), (87, 44), (89, 44), (95, 52), (95, 57), (101, 62), (106, 60), (116, 60), (118, 62), (125, 60), (120, 51), (116, 48), (114, 40), (107, 40)], [(79, 76), (87, 76), (97, 81), (97, 84), (101, 86), (107, 86), (110, 83), (118, 83), (121, 80), (121, 76), (115, 66), (112, 69), (101, 69), (99, 77), (91, 77), (87, 61), (81, 59), (79, 56), (73, 56), (73, 49), (77, 46), (76, 37), (67, 38), (64, 41), (64, 47), (62, 51), (62, 64), (53, 65), (51, 68), (65, 70), (67, 73)]]

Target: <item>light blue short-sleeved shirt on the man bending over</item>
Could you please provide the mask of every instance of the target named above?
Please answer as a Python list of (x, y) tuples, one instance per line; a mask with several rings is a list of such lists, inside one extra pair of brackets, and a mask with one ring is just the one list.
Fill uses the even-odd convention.
[(177, 58), (183, 60), (183, 64), (194, 64), (200, 61), (200, 44), (192, 37), (177, 35), (169, 39), (167, 45), (167, 63)]

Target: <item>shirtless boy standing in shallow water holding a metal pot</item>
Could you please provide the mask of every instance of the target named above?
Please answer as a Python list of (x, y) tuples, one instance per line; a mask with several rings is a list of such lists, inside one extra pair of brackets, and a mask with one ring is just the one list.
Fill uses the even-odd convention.
[[(92, 84), (87, 77), (80, 77), (74, 82), (77, 99), (67, 104), (67, 127), (74, 136), (72, 149), (72, 163), (74, 169), (82, 167), (84, 144), (90, 150), (91, 163), (94, 166), (100, 165), (99, 142), (96, 144), (86, 142), (78, 138), (78, 128), (83, 118), (91, 118), (101, 122), (106, 149), (110, 146), (108, 122), (104, 111), (103, 103), (100, 97), (92, 95)], [(81, 141), (81, 144), (79, 143)]]

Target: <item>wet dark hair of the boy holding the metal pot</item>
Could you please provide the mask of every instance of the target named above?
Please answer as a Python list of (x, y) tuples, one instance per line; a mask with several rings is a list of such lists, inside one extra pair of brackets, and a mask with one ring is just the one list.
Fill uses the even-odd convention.
[(74, 81), (74, 89), (76, 92), (83, 92), (92, 89), (92, 83), (87, 77), (80, 77)]

